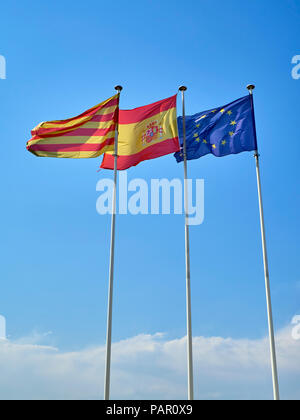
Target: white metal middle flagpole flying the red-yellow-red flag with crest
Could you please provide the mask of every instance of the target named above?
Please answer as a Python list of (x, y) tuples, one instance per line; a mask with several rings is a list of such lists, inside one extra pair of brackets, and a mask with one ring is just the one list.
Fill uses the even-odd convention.
[(181, 91), (181, 96), (182, 96), (182, 127), (183, 127), (188, 399), (193, 400), (194, 399), (194, 381), (193, 381), (193, 340), (192, 340), (191, 276), (190, 276), (190, 235), (189, 235), (189, 224), (188, 224), (188, 184), (187, 184), (185, 104), (184, 104), (184, 92), (187, 90), (187, 87), (180, 86), (179, 90)]

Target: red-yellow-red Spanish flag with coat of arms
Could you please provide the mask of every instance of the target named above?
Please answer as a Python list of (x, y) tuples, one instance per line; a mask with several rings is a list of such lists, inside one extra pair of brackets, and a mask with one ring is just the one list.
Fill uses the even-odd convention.
[[(117, 169), (180, 150), (176, 97), (132, 110), (119, 111)], [(106, 152), (101, 168), (114, 169), (113, 151)]]

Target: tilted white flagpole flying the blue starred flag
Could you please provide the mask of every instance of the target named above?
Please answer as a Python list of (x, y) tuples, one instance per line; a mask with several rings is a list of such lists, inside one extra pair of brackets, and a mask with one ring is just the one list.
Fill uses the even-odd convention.
[(269, 267), (268, 267), (268, 256), (267, 256), (267, 245), (266, 245), (266, 232), (265, 232), (265, 222), (264, 222), (264, 212), (263, 212), (263, 202), (262, 202), (262, 192), (261, 192), (261, 181), (260, 181), (259, 153), (258, 153), (258, 147), (257, 147), (254, 105), (253, 105), (253, 90), (255, 89), (255, 86), (254, 85), (248, 85), (247, 89), (248, 89), (250, 97), (251, 97), (252, 116), (253, 116), (254, 133), (255, 133), (255, 141), (256, 141), (256, 150), (255, 150), (255, 153), (254, 153), (254, 157), (255, 157), (255, 164), (256, 164), (260, 228), (261, 228), (261, 240), (262, 240), (262, 250), (263, 250), (264, 272), (265, 272), (265, 288), (266, 288), (268, 326), (269, 326), (270, 355), (271, 355), (271, 366), (272, 366), (273, 395), (274, 395), (274, 400), (279, 400), (278, 373), (277, 373), (275, 338), (274, 338), (274, 327), (273, 327), (273, 316), (272, 316), (272, 305), (271, 305)]

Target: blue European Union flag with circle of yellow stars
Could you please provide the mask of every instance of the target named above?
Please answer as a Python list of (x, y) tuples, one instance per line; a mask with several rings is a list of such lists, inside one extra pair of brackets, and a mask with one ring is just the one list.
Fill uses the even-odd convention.
[[(175, 153), (183, 161), (182, 117), (177, 118), (181, 151)], [(255, 123), (250, 95), (228, 105), (185, 117), (186, 157), (198, 159), (212, 153), (221, 157), (257, 149)]]

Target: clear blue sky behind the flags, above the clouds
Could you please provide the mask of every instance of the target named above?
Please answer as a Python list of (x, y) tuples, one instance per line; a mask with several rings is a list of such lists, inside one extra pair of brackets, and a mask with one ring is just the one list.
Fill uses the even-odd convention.
[[(40, 121), (77, 115), (112, 96), (116, 84), (125, 109), (185, 84), (187, 114), (231, 102), (256, 84), (276, 331), (300, 313), (300, 80), (291, 77), (299, 17), (296, 0), (272, 7), (259, 0), (2, 5), (0, 313), (11, 340), (52, 331), (60, 351), (105, 343), (110, 216), (96, 212), (96, 184), (112, 173), (97, 172), (101, 159), (36, 158), (25, 144)], [(205, 182), (205, 219), (190, 234), (193, 335), (262, 339), (253, 155), (205, 156), (189, 162), (188, 172)], [(182, 176), (172, 155), (128, 171), (129, 179), (146, 181)], [(183, 216), (118, 216), (113, 340), (157, 332), (170, 340), (186, 334)]]

